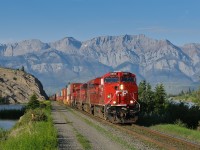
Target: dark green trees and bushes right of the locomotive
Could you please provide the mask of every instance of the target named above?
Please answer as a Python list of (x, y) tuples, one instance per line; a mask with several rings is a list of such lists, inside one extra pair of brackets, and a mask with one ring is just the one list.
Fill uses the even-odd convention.
[(181, 122), (188, 128), (200, 126), (200, 107), (169, 101), (163, 84), (152, 89), (150, 83), (143, 80), (139, 83), (138, 94), (141, 106), (138, 124), (150, 126)]

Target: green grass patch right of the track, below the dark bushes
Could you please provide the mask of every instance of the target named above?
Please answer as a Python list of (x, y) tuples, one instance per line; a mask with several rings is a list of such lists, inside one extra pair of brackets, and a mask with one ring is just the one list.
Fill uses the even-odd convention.
[(173, 125), (173, 124), (156, 125), (152, 126), (151, 128), (158, 131), (162, 131), (164, 133), (200, 142), (200, 131), (197, 130), (192, 130), (186, 127), (181, 127), (179, 125)]

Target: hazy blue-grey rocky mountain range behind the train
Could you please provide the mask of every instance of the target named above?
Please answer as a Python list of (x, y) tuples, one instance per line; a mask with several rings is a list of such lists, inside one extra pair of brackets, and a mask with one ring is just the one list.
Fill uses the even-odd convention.
[(73, 37), (44, 43), (24, 40), (0, 44), (0, 65), (25, 68), (51, 94), (68, 82), (86, 82), (109, 71), (130, 71), (138, 83), (164, 84), (168, 93), (195, 89), (200, 83), (200, 44), (176, 46), (140, 35)]

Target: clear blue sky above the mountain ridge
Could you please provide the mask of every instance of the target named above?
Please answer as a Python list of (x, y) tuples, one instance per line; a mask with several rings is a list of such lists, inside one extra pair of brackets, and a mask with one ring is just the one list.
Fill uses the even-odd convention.
[(200, 43), (199, 0), (0, 0), (0, 43), (137, 35)]

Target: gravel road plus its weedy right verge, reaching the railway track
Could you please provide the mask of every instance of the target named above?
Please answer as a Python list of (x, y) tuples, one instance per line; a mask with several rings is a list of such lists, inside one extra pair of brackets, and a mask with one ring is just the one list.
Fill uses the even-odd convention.
[(60, 150), (86, 149), (79, 142), (77, 135), (87, 139), (92, 150), (152, 149), (134, 137), (129, 137), (57, 102), (52, 102), (52, 117), (58, 130)]

